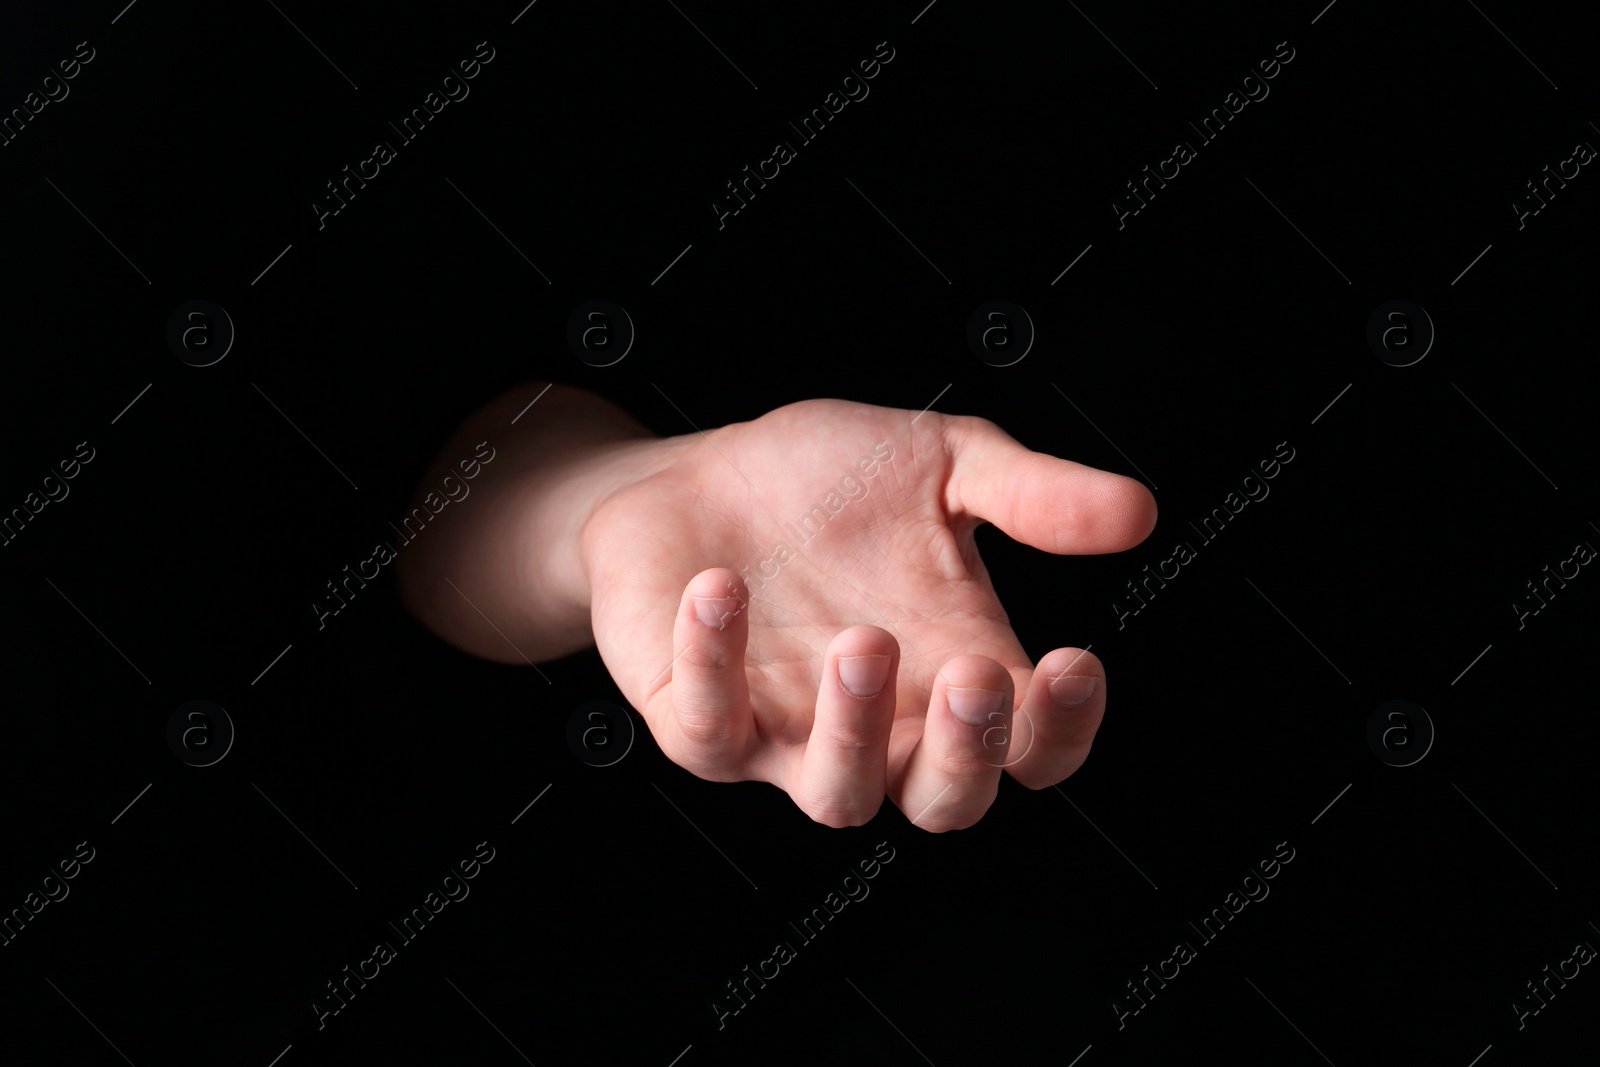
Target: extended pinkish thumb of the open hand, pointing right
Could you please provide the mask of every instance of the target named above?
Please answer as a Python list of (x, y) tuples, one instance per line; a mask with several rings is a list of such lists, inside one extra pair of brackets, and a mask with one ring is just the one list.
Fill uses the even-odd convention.
[(944, 416), (954, 458), (952, 517), (990, 522), (1014, 541), (1056, 555), (1123, 552), (1155, 530), (1144, 483), (1024, 448), (989, 419)]

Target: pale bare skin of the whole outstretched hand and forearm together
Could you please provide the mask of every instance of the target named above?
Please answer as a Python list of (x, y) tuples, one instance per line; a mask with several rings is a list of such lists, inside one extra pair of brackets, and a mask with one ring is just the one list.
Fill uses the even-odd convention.
[[(1002, 774), (1045, 789), (1083, 765), (1106, 669), (1075, 646), (1029, 659), (973, 531), (1122, 552), (1155, 526), (1139, 482), (974, 416), (803, 400), (658, 438), (594, 394), (544, 389), (478, 410), (421, 480), (419, 496), (478, 442), (494, 450), (397, 563), (442, 638), (501, 662), (595, 645), (674, 763), (771, 782), (834, 827), (888, 798), (957, 830)], [(893, 458), (869, 477), (882, 442)]]

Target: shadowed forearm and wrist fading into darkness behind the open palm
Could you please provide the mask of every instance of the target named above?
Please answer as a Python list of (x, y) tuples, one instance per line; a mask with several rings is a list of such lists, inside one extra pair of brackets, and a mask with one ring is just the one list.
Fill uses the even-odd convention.
[(672, 451), (672, 438), (654, 437), (616, 405), (546, 386), (496, 397), (451, 435), (414, 502), (446, 475), (459, 480), (459, 461), (480, 442), (493, 459), (470, 499), (451, 509), (450, 522), (430, 525), (398, 563), (402, 601), (424, 625), (462, 651), (512, 664), (594, 641), (582, 525), (610, 493), (659, 469)]

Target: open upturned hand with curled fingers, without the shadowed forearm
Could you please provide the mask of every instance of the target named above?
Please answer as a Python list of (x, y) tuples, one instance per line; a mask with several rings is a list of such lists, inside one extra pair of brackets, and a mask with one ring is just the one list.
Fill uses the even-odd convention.
[(658, 446), (579, 557), (598, 651), (674, 763), (771, 782), (835, 827), (886, 795), (939, 832), (978, 822), (1002, 769), (1043, 789), (1088, 757), (1104, 667), (1029, 661), (973, 531), (1120, 552), (1155, 526), (1139, 482), (986, 419), (843, 400), (635, 445)]

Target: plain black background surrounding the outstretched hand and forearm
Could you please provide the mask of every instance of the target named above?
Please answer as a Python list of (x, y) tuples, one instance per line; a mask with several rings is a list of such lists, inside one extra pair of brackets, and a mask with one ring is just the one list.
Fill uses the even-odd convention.
[[(8, 1062), (1592, 1056), (1594, 968), (1512, 1009), (1600, 944), (1600, 577), (1512, 608), (1600, 544), (1600, 179), (1523, 229), (1510, 206), (1600, 141), (1571, 8), (920, 5), (5, 14), (6, 114), (96, 53), (0, 149), (0, 509), (94, 450), (0, 547), (0, 909), (96, 849), (0, 949)], [(483, 40), (470, 96), (318, 229), (325, 182)], [(723, 184), (885, 40), (870, 96), (718, 230)], [(1123, 182), (1285, 40), (1270, 94), (1118, 229)], [(595, 298), (638, 331), (608, 368), (563, 339)], [(1038, 334), (1006, 368), (965, 342), (995, 298)], [(208, 368), (165, 341), (190, 299), (237, 328)], [(1365, 341), (1390, 299), (1437, 328), (1406, 368)], [(830, 830), (678, 769), (637, 715), (584, 765), (570, 715), (622, 702), (592, 651), (472, 659), (392, 576), (318, 630), (445, 435), (534, 378), (658, 434), (938, 398), (1146, 480), (1160, 523), (1126, 553), (979, 531), (1029, 653), (1106, 662), (1090, 761), (1003, 781), (970, 830), (891, 805)], [(1280, 442), (1270, 496), (1118, 629), (1123, 584)], [(208, 768), (166, 745), (190, 699), (237, 726)], [(1408, 768), (1366, 742), (1390, 699), (1437, 729)], [(472, 894), (318, 1029), (323, 984), (485, 840)], [(880, 841), (870, 896), (718, 1030), (723, 984)], [(1123, 984), (1280, 841), (1270, 896), (1118, 1030)]]

